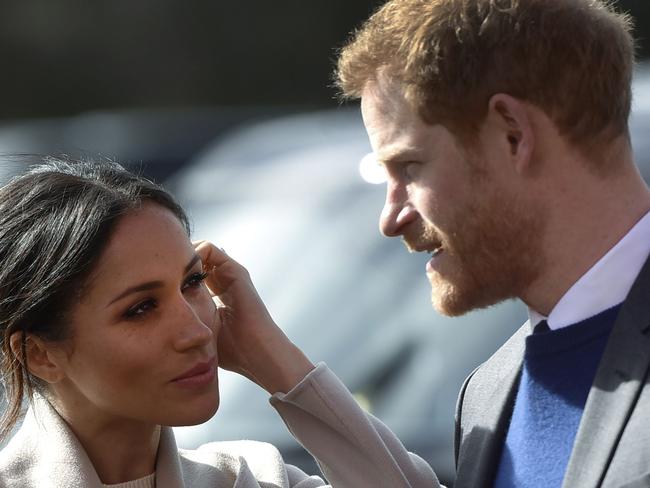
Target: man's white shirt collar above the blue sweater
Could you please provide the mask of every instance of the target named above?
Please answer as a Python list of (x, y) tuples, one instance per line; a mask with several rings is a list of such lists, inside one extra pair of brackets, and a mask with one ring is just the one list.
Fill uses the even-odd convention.
[(569, 288), (548, 317), (529, 308), (531, 326), (546, 320), (551, 330), (561, 329), (618, 305), (627, 297), (648, 255), (650, 212)]

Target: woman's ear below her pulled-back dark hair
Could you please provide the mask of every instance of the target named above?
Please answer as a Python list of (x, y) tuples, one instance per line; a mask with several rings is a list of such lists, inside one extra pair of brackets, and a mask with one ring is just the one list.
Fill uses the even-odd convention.
[(14, 357), (34, 376), (47, 383), (58, 383), (65, 377), (63, 366), (64, 352), (54, 343), (40, 337), (14, 332), (9, 338)]

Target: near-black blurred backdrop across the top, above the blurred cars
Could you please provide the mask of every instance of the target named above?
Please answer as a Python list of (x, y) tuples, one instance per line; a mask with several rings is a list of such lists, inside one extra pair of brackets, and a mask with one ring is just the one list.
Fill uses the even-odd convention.
[[(0, 118), (333, 105), (335, 49), (383, 0), (1, 0)], [(648, 0), (619, 0), (648, 55)]]

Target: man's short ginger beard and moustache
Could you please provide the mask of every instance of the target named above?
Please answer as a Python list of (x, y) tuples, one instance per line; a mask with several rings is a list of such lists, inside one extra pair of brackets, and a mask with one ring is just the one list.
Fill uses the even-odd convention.
[(544, 221), (537, 208), (513, 195), (475, 182), (471, 201), (457, 206), (443, 228), (424, 221), (418, 233), (404, 241), (409, 248), (433, 248), (442, 253), (433, 272), (431, 302), (440, 313), (462, 315), (521, 296), (539, 276), (544, 254)]

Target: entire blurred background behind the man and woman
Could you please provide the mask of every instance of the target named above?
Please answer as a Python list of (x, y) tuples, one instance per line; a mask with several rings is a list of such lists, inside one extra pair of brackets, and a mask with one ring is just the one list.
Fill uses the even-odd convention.
[[(337, 49), (381, 3), (0, 0), (0, 154), (102, 155), (165, 184), (289, 336), (451, 485), (460, 384), (526, 314), (438, 316), (425, 257), (379, 235), (358, 106), (331, 85)], [(615, 3), (644, 60), (650, 2)], [(640, 63), (632, 118), (646, 179), (649, 74)], [(0, 161), (0, 181), (24, 168)], [(179, 445), (266, 440), (315, 472), (263, 392), (228, 374), (221, 388), (218, 414), (177, 429)]]

